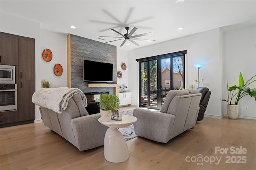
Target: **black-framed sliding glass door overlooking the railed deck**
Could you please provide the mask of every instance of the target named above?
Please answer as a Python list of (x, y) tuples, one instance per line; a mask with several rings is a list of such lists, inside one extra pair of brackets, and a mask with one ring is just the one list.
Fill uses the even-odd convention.
[(166, 94), (184, 88), (184, 55), (139, 62), (140, 107), (161, 109)]

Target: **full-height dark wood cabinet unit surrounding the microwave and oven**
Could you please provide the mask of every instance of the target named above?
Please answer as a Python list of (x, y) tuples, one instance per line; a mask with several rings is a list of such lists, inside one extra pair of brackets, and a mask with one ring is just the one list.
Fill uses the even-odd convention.
[[(12, 57), (6, 60), (5, 56)], [(1, 32), (0, 64), (16, 66), (18, 86), (18, 109), (0, 112), (1, 127), (34, 122), (35, 105), (31, 100), (35, 92), (35, 39)]]

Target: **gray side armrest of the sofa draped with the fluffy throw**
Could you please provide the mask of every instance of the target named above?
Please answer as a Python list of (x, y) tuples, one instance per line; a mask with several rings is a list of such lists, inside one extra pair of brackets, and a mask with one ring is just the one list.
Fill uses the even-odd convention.
[(100, 113), (71, 119), (72, 130), (79, 150), (88, 150), (102, 146), (108, 127), (98, 119)]

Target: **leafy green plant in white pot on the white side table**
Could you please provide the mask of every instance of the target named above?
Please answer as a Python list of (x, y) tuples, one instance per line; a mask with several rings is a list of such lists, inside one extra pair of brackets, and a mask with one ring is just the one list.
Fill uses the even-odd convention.
[(116, 94), (102, 93), (98, 98), (98, 106), (103, 122), (108, 122), (111, 119), (112, 113), (119, 109), (119, 98)]

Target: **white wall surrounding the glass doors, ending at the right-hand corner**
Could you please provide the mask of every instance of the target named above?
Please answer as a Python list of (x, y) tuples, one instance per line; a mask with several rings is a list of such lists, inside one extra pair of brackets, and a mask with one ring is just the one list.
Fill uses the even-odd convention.
[[(132, 92), (132, 105), (138, 106), (138, 63), (135, 61), (139, 58), (151, 57), (155, 55), (161, 55), (166, 53), (172, 53), (177, 51), (187, 50), (188, 53), (185, 59), (185, 82), (186, 85), (194, 84), (198, 79), (197, 68), (193, 64), (203, 64), (200, 68), (200, 80), (203, 78), (203, 82), (210, 83), (208, 88), (212, 91), (208, 107), (205, 115), (212, 117), (221, 117), (221, 73), (222, 59), (220, 56), (220, 31), (219, 29), (213, 29), (202, 33), (174, 39), (172, 41), (166, 41), (151, 45), (148, 47), (142, 47), (132, 51), (128, 51), (128, 64), (130, 69), (128, 72), (128, 86), (131, 87)], [(136, 75), (136, 76), (134, 76)], [(132, 82), (132, 83), (130, 83)]]

